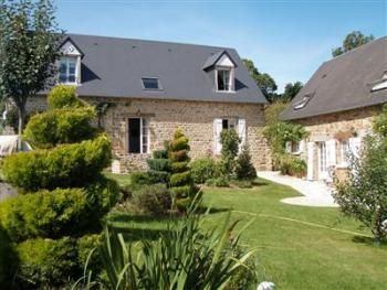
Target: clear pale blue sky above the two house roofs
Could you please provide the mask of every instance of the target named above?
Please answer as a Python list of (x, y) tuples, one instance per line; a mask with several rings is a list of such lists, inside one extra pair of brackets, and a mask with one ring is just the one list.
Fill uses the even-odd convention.
[(305, 83), (354, 30), (387, 34), (387, 0), (57, 0), (61, 29), (81, 34), (229, 46), (286, 83)]

